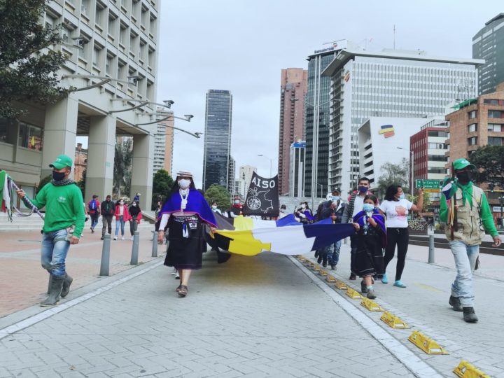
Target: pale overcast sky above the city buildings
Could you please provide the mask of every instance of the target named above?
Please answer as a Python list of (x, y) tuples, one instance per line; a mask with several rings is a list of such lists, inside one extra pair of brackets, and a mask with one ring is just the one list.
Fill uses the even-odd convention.
[[(162, 0), (158, 102), (172, 99), (176, 126), (204, 132), (205, 94), (230, 90), (231, 153), (269, 176), (278, 165), (280, 71), (307, 69), (307, 55), (349, 39), (367, 50), (393, 46), (429, 55), (472, 57), (472, 36), (500, 12), (495, 1)], [(500, 5), (499, 5), (500, 4)], [(176, 132), (174, 173), (193, 172), (201, 186), (203, 137)]]

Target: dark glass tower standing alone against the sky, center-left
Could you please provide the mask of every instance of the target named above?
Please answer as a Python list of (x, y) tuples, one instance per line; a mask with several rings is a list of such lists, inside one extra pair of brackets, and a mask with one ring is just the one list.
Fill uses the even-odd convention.
[(231, 153), (232, 94), (209, 90), (205, 111), (203, 190), (213, 184), (228, 188)]

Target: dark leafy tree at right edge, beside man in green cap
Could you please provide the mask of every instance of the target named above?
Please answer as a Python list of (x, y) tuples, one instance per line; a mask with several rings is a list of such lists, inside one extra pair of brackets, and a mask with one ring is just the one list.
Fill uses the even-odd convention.
[(504, 146), (479, 147), (469, 159), (477, 167), (474, 178), (477, 183), (504, 189)]

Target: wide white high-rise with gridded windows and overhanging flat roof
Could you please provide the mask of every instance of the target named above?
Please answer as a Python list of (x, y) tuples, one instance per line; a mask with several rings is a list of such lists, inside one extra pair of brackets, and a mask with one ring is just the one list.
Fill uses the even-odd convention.
[[(358, 127), (370, 117), (444, 116), (460, 98), (459, 84), (474, 83), (481, 59), (429, 57), (424, 51), (344, 49), (323, 71), (331, 78), (329, 186), (346, 195), (361, 174)], [(407, 146), (407, 144), (406, 144)]]

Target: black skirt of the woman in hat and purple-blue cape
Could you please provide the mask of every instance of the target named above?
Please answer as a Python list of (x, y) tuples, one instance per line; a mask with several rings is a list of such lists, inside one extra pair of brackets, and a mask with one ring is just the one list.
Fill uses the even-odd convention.
[[(206, 245), (203, 226), (198, 216), (170, 216), (165, 265), (176, 269), (201, 269)], [(183, 237), (183, 228), (186, 228), (188, 237)]]

